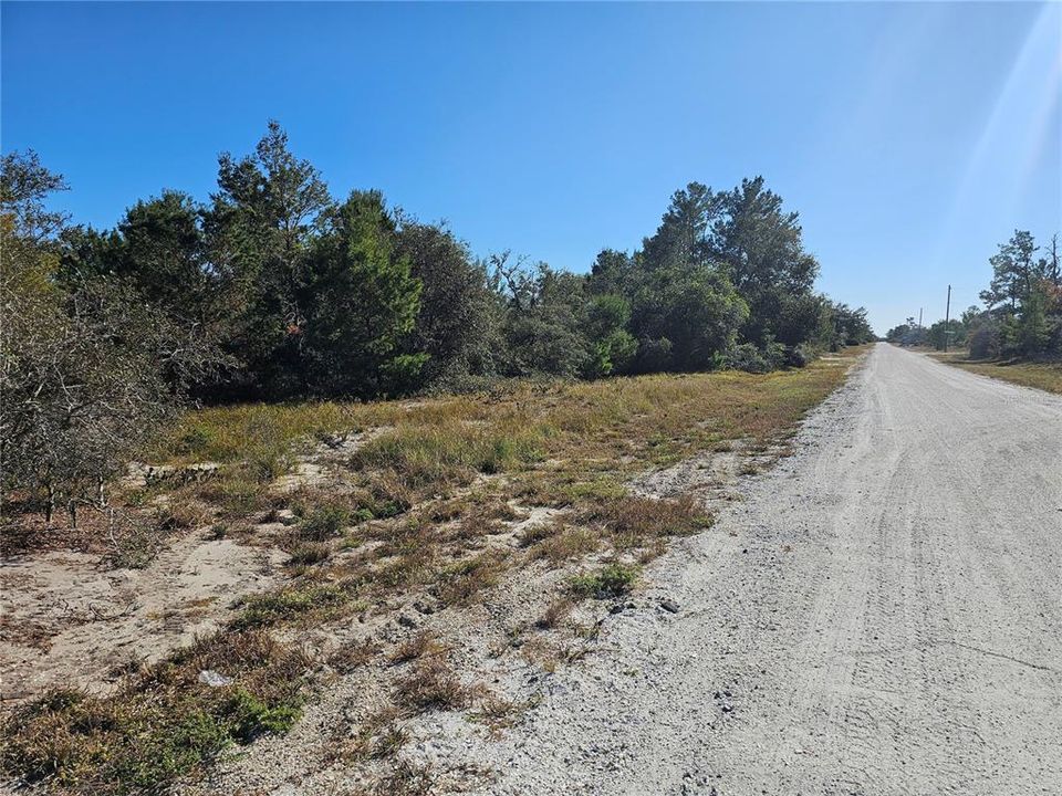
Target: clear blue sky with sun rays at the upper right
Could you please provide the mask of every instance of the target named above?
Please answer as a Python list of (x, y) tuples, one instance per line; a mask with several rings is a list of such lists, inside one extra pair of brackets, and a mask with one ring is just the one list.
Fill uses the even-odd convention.
[(1062, 229), (1062, 6), (3, 2), (2, 148), (111, 226), (206, 199), (269, 118), (335, 195), (589, 269), (690, 180), (762, 174), (879, 333)]

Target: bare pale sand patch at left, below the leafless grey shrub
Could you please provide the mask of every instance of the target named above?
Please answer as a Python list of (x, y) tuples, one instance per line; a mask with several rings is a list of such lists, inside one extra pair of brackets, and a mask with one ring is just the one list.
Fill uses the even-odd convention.
[(230, 606), (278, 578), (278, 549), (190, 533), (144, 569), (52, 552), (0, 563), (0, 688), (10, 705), (50, 687), (106, 693), (124, 667), (216, 630)]

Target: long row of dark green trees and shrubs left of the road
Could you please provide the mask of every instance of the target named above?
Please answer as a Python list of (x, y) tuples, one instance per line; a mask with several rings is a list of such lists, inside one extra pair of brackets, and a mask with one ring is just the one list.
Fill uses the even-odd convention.
[(336, 199), (275, 123), (220, 156), (206, 202), (165, 190), (96, 230), (46, 209), (65, 188), (33, 153), (2, 159), (0, 464), (49, 505), (102, 495), (188, 398), (767, 371), (873, 339), (863, 308), (815, 292), (799, 216), (759, 177), (689, 184), (639, 249), (605, 249), (585, 274), (477, 259), (379, 191)]

